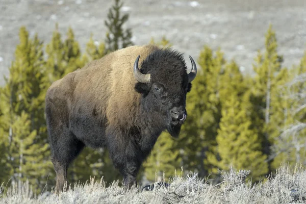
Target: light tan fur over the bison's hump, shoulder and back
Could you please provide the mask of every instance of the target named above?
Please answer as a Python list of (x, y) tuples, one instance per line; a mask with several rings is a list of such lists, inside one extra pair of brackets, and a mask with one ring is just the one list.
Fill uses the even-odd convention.
[[(59, 91), (57, 96), (67, 99), (69, 111), (85, 104), (88, 111), (95, 109), (98, 115), (106, 116), (108, 123), (124, 126), (133, 121), (136, 104), (140, 102), (140, 94), (134, 90), (137, 83), (133, 73), (135, 59), (140, 55), (141, 69), (142, 61), (155, 49), (158, 49), (155, 45), (135, 45), (117, 50), (54, 82), (47, 95), (53, 90)], [(71, 107), (72, 100), (83, 103)]]

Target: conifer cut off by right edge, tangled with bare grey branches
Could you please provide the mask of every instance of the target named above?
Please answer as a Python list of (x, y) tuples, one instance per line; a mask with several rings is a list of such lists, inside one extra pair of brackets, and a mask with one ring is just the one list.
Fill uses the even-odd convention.
[[(306, 53), (301, 59), (299, 66), (286, 69), (287, 83), (279, 88), (278, 107), (283, 107), (283, 114), (273, 117), (278, 126), (270, 126), (277, 130), (273, 144), (273, 167), (279, 166), (281, 162), (290, 165), (296, 163), (306, 164)], [(279, 112), (281, 113), (281, 112)]]

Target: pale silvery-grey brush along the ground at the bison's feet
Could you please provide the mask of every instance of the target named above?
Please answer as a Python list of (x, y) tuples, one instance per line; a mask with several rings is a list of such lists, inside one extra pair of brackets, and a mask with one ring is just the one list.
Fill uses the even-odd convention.
[[(42, 193), (34, 196), (28, 183), (7, 187), (0, 203), (305, 203), (306, 171), (301, 165), (290, 169), (282, 165), (265, 182), (251, 185), (246, 181), (249, 171), (222, 172), (223, 181), (213, 186), (196, 174), (175, 175), (170, 186), (151, 191), (137, 188), (124, 191), (118, 181), (106, 187), (103, 180), (75, 184), (60, 196)], [(2, 185), (2, 190), (5, 185)]]

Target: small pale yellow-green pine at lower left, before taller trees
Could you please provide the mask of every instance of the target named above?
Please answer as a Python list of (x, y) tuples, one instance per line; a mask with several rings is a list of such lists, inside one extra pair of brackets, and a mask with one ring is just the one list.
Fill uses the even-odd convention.
[(29, 181), (35, 193), (41, 193), (47, 182), (50, 162), (46, 162), (48, 144), (34, 143), (37, 132), (31, 131), (31, 120), (27, 113), (14, 117), (11, 123), (12, 142), (9, 148), (10, 157), (14, 159), (15, 181)]

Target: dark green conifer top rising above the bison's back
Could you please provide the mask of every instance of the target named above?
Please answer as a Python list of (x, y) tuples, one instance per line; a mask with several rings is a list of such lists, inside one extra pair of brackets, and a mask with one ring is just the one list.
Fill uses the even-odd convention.
[(115, 0), (115, 5), (109, 9), (108, 20), (105, 20), (105, 25), (108, 28), (106, 34), (106, 53), (133, 45), (131, 40), (132, 30), (123, 29), (123, 24), (129, 20), (129, 14), (120, 15), (122, 6), (123, 3), (120, 0)]

